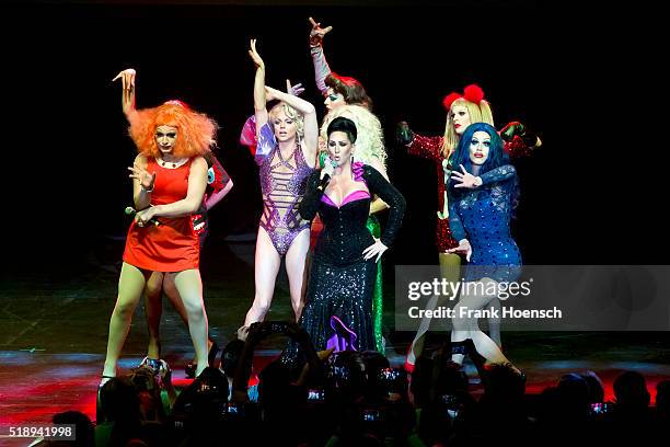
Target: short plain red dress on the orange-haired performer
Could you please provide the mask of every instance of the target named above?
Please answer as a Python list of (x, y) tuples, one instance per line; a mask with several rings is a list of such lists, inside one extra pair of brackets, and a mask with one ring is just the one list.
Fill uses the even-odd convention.
[[(186, 198), (188, 160), (176, 169), (163, 168), (149, 159), (147, 171), (155, 172), (151, 205), (166, 205)], [(130, 225), (124, 251), (124, 262), (152, 272), (182, 272), (198, 268), (200, 249), (190, 216), (160, 217), (161, 225)]]

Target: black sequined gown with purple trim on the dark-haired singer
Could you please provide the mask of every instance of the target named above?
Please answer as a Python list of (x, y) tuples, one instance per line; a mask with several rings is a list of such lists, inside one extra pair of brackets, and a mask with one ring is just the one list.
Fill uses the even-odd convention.
[(333, 316), (356, 333), (354, 348), (376, 348), (372, 296), (377, 264), (374, 259), (366, 261), (362, 255), (363, 250), (374, 243), (366, 227), (370, 195), (378, 195), (390, 206), (388, 225), (380, 238), (386, 247), (395, 239), (405, 210), (402, 194), (374, 168), (354, 163), (353, 171), (357, 181), (366, 183), (369, 194), (350, 200), (345, 198), (338, 208), (317, 188), (320, 172), (315, 171), (300, 204), (303, 218), (311, 220), (319, 213), (324, 225), (314, 249), (307, 303), (299, 322), (310, 334), (316, 351), (324, 349), (334, 335)]

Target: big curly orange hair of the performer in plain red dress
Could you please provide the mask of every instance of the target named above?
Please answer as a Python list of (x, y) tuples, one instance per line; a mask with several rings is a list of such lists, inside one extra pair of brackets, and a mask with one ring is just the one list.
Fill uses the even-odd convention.
[(217, 123), (207, 115), (192, 111), (181, 101), (168, 101), (153, 108), (143, 108), (129, 117), (130, 138), (139, 153), (160, 158), (155, 144), (155, 129), (159, 126), (177, 128), (174, 145), (175, 157), (196, 157), (209, 152), (216, 144)]

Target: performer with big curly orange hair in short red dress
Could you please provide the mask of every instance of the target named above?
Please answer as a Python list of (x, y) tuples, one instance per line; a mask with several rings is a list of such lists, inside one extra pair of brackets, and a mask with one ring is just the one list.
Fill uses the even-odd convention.
[(132, 313), (152, 272), (163, 272), (174, 280), (186, 309), (198, 363), (196, 375), (207, 367), (200, 249), (192, 216), (205, 195), (207, 162), (203, 156), (210, 152), (218, 126), (178, 101), (137, 111), (129, 118), (130, 137), (139, 152), (128, 168), (137, 214), (126, 239), (102, 383), (116, 376)]

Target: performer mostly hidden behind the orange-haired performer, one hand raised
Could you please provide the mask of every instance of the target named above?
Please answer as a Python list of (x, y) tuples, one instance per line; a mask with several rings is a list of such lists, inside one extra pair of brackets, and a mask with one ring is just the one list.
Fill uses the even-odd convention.
[[(135, 78), (136, 71), (131, 68), (119, 72), (114, 80), (119, 79), (123, 84), (122, 106), (126, 117), (130, 122), (130, 115), (137, 113), (135, 107), (136, 103), (136, 89)], [(192, 222), (194, 231), (198, 234), (200, 243), (200, 250), (207, 237), (209, 230), (209, 221), (207, 218), (207, 211), (217, 205), (226, 195), (230, 192), (233, 186), (228, 172), (221, 165), (221, 162), (215, 157), (213, 152), (204, 154), (207, 161), (207, 190), (205, 191), (205, 197), (203, 204), (197, 214), (192, 216)], [(148, 365), (154, 370), (159, 370), (162, 360), (160, 359), (161, 344), (160, 344), (160, 322), (162, 314), (161, 293), (165, 293), (173, 308), (177, 311), (182, 320), (188, 324), (188, 318), (186, 309), (182, 302), (182, 298), (174, 285), (174, 278), (172, 276), (165, 276), (163, 272), (152, 272), (151, 277), (147, 280), (145, 287), (145, 309), (147, 313), (147, 326), (149, 328), (149, 345), (147, 347), (147, 356), (142, 359), (141, 365)], [(209, 364), (213, 363), (213, 358), (218, 352), (217, 343), (208, 336), (207, 341), (208, 358)], [(190, 362), (186, 365), (186, 377), (193, 378), (196, 370), (196, 360)]]

